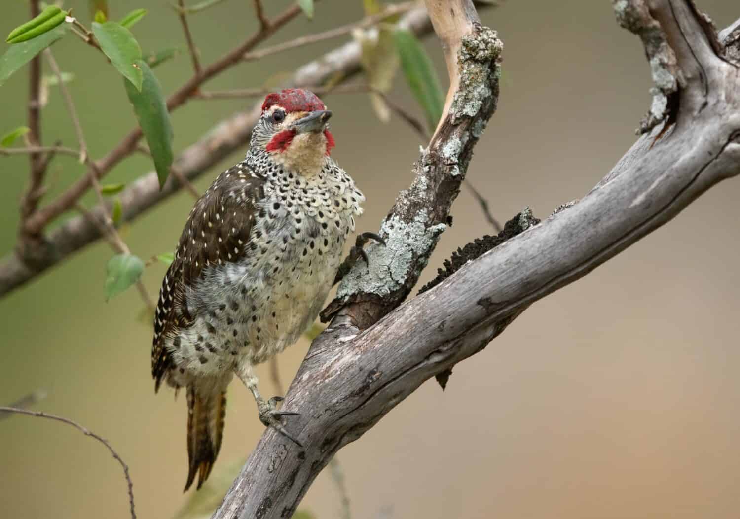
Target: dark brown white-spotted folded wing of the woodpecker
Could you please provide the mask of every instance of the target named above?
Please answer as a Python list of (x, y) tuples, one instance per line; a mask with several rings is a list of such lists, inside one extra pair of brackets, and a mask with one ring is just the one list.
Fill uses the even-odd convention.
[(154, 317), (152, 376), (155, 391), (173, 367), (165, 339), (192, 324), (186, 287), (206, 268), (219, 268), (243, 257), (255, 223), (255, 203), (264, 197), (264, 179), (239, 163), (223, 172), (190, 211), (175, 260), (169, 265)]

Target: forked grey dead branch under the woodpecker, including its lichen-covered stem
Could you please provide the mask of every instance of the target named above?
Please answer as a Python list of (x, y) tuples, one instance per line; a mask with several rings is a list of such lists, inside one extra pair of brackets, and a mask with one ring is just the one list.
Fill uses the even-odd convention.
[[(740, 173), (740, 74), (730, 58), (738, 50), (738, 22), (721, 33), (723, 46), (690, 1), (613, 4), (620, 19), (649, 16), (637, 21), (659, 24), (673, 52), (681, 81), (665, 117), (582, 200), (400, 305), (444, 229), (477, 138), (471, 129), (490, 116), (495, 96), (474, 115), (468, 102), (448, 103), (445, 121), (414, 166), (414, 183), (381, 227), (388, 247), (372, 248), (369, 274), (363, 268), (340, 287), (327, 314), (332, 325), (314, 340), (288, 390), (286, 406), (301, 413), (289, 427), (304, 447), (266, 430), (214, 518), (289, 518), (334, 453), (425, 380), (479, 352), (532, 302), (588, 274)], [(493, 66), (491, 33), (471, 27), (475, 40), (483, 36), (490, 44), (460, 60), (488, 55)], [(649, 60), (665, 51), (647, 47)], [(494, 78), (468, 86), (492, 94)], [(459, 93), (448, 99), (464, 99)]]

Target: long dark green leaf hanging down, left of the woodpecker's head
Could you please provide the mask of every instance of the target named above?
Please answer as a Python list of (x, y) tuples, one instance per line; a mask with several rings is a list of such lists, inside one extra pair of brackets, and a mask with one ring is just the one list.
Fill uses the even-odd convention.
[(159, 186), (162, 187), (169, 175), (169, 166), (172, 166), (172, 124), (169, 122), (169, 112), (157, 77), (145, 61), (138, 60), (136, 63), (144, 73), (141, 92), (133, 88), (129, 81), (124, 81), (124, 84), (129, 100), (134, 105), (141, 131), (147, 138)]

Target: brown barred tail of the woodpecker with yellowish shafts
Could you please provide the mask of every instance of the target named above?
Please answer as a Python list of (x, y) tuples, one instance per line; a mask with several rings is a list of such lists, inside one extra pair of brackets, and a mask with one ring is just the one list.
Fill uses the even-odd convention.
[(198, 474), (198, 489), (208, 478), (221, 448), (226, 418), (226, 391), (198, 391), (195, 384), (187, 388), (187, 453), (189, 470), (185, 491)]

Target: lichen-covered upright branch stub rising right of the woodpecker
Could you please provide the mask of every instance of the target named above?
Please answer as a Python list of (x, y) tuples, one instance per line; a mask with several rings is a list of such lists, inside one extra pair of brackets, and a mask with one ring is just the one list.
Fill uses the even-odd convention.
[[(430, 2), (435, 4), (435, 2)], [(464, 4), (465, 2), (462, 2)], [(371, 245), (370, 265), (356, 265), (322, 313), (328, 321), (340, 310), (360, 329), (368, 328), (406, 299), (447, 227), (449, 209), (465, 177), (473, 147), (496, 110), (499, 89), (501, 41), (478, 22), (472, 4), (457, 10), (430, 7), (435, 30), (445, 27), (445, 51), (456, 49), (450, 72), (454, 89), (443, 120), (427, 149), (414, 165), (414, 181), (402, 191), (380, 225), (386, 245)], [(465, 21), (437, 18), (457, 13)], [(455, 28), (465, 31), (454, 35)], [(459, 45), (450, 44), (459, 41)]]

